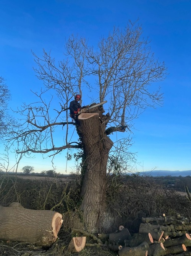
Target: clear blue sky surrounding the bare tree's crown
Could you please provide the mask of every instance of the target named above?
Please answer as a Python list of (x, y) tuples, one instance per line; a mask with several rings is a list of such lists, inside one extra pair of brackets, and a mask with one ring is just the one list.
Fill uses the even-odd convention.
[[(86, 37), (93, 45), (113, 26), (124, 28), (128, 20), (142, 25), (151, 40), (155, 58), (164, 61), (167, 78), (160, 82), (163, 107), (146, 109), (134, 122), (131, 152), (136, 152), (139, 171), (191, 170), (191, 2), (190, 0), (2, 0), (0, 8), (0, 76), (11, 91), (10, 107), (30, 103), (42, 86), (32, 69), (31, 50), (42, 49), (63, 58), (65, 39)], [(159, 84), (158, 84), (159, 85)], [(88, 104), (89, 102), (83, 102)], [(3, 152), (3, 146), (0, 147)], [(14, 161), (14, 159), (10, 159)], [(55, 159), (65, 172), (65, 153)], [(49, 170), (51, 162), (36, 156), (22, 159), (20, 167)], [(68, 172), (72, 165), (68, 164)]]

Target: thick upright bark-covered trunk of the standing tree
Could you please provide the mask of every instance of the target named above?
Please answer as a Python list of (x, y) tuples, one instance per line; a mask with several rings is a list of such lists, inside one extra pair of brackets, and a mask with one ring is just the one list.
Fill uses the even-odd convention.
[(81, 209), (85, 228), (90, 233), (98, 232), (101, 228), (100, 223), (105, 226), (105, 230), (110, 225), (105, 196), (108, 153), (113, 145), (113, 142), (105, 134), (102, 111), (99, 111), (99, 107), (93, 111), (99, 115), (89, 119), (80, 119), (77, 122), (78, 134), (84, 149), (83, 181), (80, 193), (83, 198)]

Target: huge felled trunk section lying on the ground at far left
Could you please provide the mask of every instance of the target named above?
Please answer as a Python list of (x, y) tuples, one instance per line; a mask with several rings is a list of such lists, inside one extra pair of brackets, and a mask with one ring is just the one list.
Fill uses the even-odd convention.
[(51, 246), (62, 222), (55, 211), (0, 206), (0, 239)]

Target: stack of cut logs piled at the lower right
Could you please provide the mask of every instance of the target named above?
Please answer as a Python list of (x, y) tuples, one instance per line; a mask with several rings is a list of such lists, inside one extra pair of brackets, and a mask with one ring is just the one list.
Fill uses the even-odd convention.
[(191, 256), (191, 221), (179, 214), (142, 218), (139, 233), (133, 236), (121, 228), (99, 238), (108, 239), (109, 248), (119, 256)]

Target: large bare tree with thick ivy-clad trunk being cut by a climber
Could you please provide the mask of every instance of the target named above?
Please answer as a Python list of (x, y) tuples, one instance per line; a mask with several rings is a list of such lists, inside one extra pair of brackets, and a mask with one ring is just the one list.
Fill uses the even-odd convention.
[[(155, 60), (149, 41), (141, 34), (141, 27), (129, 22), (125, 30), (114, 28), (107, 38), (101, 38), (96, 50), (87, 46), (85, 39), (71, 36), (66, 42), (65, 59), (58, 64), (45, 51), (42, 58), (34, 54), (38, 66), (35, 71), (44, 89), (39, 94), (34, 92), (37, 102), (23, 105), (20, 113), (26, 117), (25, 126), (13, 134), (24, 147), (18, 153), (52, 152), (50, 156), (54, 157), (64, 149), (83, 150), (81, 210), (85, 228), (91, 232), (109, 222), (105, 205), (109, 152), (112, 147), (116, 152), (117, 146), (117, 152), (128, 152), (133, 120), (148, 106), (162, 104), (160, 88), (153, 83), (165, 78), (166, 68)], [(75, 93), (82, 95), (84, 86), (92, 101), (108, 101), (108, 113), (99, 106), (89, 110), (98, 116), (70, 121), (68, 104)], [(77, 142), (68, 139), (71, 126), (76, 126)], [(60, 132), (62, 145), (54, 138), (55, 130)], [(116, 145), (108, 137), (113, 132), (127, 133)], [(116, 162), (116, 155), (114, 159)]]

